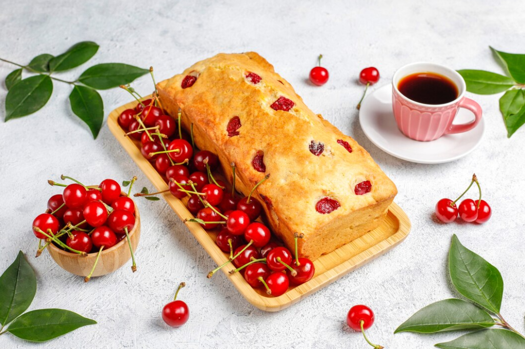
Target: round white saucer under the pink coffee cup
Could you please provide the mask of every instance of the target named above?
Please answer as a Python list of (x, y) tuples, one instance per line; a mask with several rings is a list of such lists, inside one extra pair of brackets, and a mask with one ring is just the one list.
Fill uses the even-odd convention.
[[(466, 123), (474, 115), (461, 108), (454, 123)], [(397, 128), (392, 111), (392, 86), (370, 93), (361, 103), (359, 122), (364, 134), (381, 150), (402, 160), (421, 164), (440, 164), (458, 160), (478, 146), (485, 133), (485, 120), (464, 133), (447, 134), (430, 142), (409, 139)]]

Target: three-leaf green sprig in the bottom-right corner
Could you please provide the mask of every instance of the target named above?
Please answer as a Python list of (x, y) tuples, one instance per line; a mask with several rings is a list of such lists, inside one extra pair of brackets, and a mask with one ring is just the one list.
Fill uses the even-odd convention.
[(463, 299), (432, 303), (412, 315), (394, 333), (476, 330), (436, 346), (484, 349), (488, 348), (487, 343), (492, 343), (493, 348), (525, 349), (525, 337), (500, 314), (503, 279), (499, 270), (461, 245), (456, 235), (448, 253), (448, 268), (456, 290), (474, 304)]

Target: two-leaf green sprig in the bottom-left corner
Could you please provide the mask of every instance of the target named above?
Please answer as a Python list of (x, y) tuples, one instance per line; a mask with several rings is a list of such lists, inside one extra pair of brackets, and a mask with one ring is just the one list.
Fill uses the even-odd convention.
[(97, 323), (64, 309), (38, 309), (24, 313), (35, 294), (35, 272), (20, 251), (0, 276), (0, 335), (10, 333), (23, 340), (45, 342)]

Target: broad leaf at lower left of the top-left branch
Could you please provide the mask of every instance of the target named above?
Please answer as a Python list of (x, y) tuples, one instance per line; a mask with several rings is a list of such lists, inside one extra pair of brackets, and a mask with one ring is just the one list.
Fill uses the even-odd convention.
[(24, 79), (13, 86), (5, 99), (5, 121), (25, 117), (44, 107), (53, 93), (53, 82), (46, 75)]

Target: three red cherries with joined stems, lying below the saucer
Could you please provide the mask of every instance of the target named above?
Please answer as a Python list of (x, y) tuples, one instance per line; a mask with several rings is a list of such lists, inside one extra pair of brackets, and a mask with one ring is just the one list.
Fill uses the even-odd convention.
[[(459, 207), (456, 206), (459, 199), (468, 192), (474, 183), (478, 186), (479, 199), (465, 199), (459, 204)], [(451, 223), (455, 221), (459, 215), (459, 217), (466, 222), (482, 224), (486, 223), (492, 216), (491, 207), (485, 200), (481, 199), (481, 186), (479, 185), (476, 174), (472, 175), (470, 185), (456, 200), (453, 201), (448, 198), (440, 199), (436, 204), (435, 212), (436, 217), (443, 223)]]

